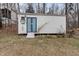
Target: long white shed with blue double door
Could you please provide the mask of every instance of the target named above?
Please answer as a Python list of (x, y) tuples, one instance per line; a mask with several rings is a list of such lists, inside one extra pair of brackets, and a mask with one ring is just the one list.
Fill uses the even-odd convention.
[(18, 14), (18, 34), (66, 33), (66, 16)]

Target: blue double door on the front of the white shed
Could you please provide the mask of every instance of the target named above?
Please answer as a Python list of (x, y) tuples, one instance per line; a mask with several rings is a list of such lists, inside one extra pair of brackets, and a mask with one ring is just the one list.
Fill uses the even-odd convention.
[(27, 32), (37, 32), (37, 18), (27, 17)]

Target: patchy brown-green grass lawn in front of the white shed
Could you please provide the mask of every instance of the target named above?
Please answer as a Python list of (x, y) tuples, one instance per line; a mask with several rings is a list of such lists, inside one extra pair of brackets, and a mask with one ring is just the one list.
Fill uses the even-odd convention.
[(79, 55), (79, 37), (58, 38), (52, 35), (26, 39), (23, 35), (0, 33), (0, 55)]

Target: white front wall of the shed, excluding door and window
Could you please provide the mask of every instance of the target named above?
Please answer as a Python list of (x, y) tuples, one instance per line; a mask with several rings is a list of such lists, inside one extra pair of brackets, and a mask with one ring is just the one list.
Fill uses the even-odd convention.
[(20, 23), (21, 16), (18, 16), (18, 34), (27, 33), (27, 17), (37, 18), (37, 34), (38, 33), (66, 33), (66, 17), (65, 16), (41, 16), (41, 15), (26, 15), (25, 24)]

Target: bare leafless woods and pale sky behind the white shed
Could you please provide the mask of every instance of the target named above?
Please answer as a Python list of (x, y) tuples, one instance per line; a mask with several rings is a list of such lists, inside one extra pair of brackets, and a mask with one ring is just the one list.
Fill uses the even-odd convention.
[[(1, 6), (4, 6), (2, 10)], [(9, 10), (10, 8), (10, 10)], [(15, 11), (16, 15), (11, 15), (11, 11)], [(78, 3), (0, 3), (0, 29), (7, 29), (13, 31), (17, 30), (18, 13), (38, 13), (53, 16), (66, 16), (67, 29), (79, 27), (79, 4)], [(15, 24), (9, 18), (16, 16)], [(2, 23), (5, 17), (5, 24)], [(6, 20), (8, 20), (8, 23)], [(7, 23), (7, 24), (6, 24)]]

